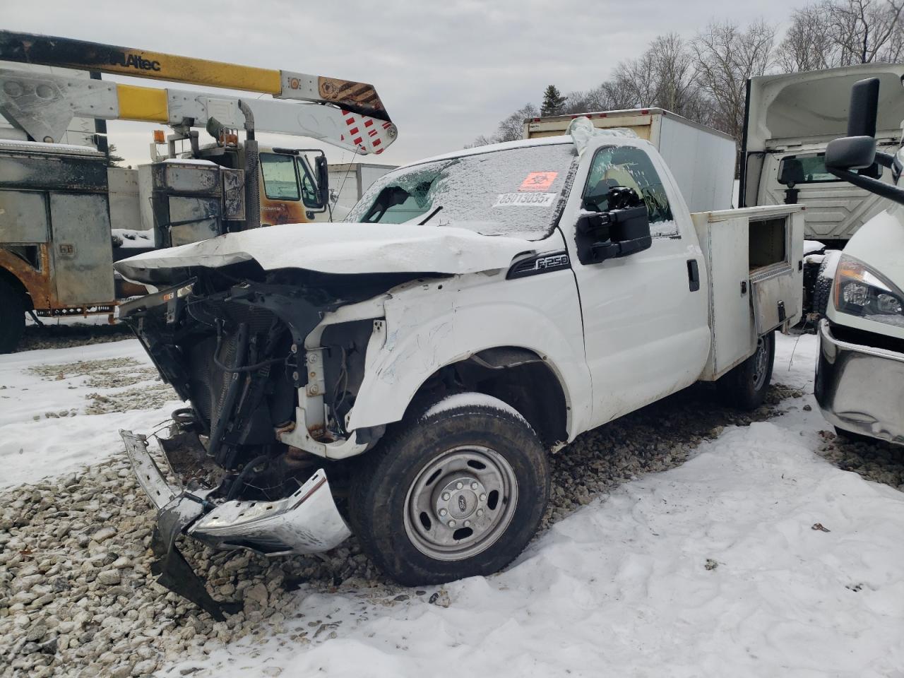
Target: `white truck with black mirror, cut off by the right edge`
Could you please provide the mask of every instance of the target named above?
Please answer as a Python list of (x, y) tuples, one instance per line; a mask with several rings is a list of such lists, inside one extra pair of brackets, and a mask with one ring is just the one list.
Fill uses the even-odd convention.
[[(901, 82), (892, 86), (900, 89)], [(829, 171), (873, 193), (883, 210), (837, 259), (819, 325), (815, 395), (843, 436), (904, 445), (904, 148), (894, 155), (877, 151), (881, 87), (878, 79), (853, 86), (848, 136), (825, 151)], [(863, 172), (874, 165), (890, 175), (890, 184)]]

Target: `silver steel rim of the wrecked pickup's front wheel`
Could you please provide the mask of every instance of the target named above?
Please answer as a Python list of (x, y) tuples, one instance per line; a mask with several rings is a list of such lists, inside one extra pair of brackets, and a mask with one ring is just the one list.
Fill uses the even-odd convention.
[(433, 457), (405, 497), (405, 532), (434, 560), (486, 551), (512, 522), (518, 482), (512, 465), (489, 447), (454, 447)]

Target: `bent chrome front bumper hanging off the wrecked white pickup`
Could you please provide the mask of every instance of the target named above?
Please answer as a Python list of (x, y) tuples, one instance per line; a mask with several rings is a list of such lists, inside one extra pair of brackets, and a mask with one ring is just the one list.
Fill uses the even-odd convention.
[(268, 556), (329, 551), (351, 534), (336, 509), (323, 469), (285, 499), (214, 505), (206, 493), (169, 485), (147, 451), (146, 438), (131, 431), (119, 434), (138, 483), (157, 508), (158, 527), (175, 521), (178, 532), (214, 548), (250, 549)]

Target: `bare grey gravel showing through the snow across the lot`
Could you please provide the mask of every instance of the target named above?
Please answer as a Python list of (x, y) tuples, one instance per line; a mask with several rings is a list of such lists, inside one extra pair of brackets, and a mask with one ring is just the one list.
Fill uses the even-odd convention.
[[(42, 377), (53, 379), (79, 365), (48, 366)], [(107, 365), (108, 374), (99, 369), (92, 378), (127, 386), (124, 367)], [(741, 413), (720, 407), (710, 387), (697, 385), (589, 431), (552, 459), (551, 504), (543, 529), (629, 479), (682, 464), (703, 439), (717, 437), (726, 426), (809, 407), (802, 395), (778, 383), (766, 405)], [(108, 401), (104, 411), (126, 407), (127, 400)], [(899, 449), (852, 443), (827, 431), (823, 438), (819, 454), (824, 458), (904, 489)], [(383, 578), (354, 539), (324, 558), (278, 560), (213, 553), (184, 542), (186, 556), (208, 578), (214, 597), (244, 602), (243, 612), (214, 623), (149, 578), (154, 514), (124, 454), (76, 474), (6, 491), (0, 505), (2, 676), (148, 675), (242, 636), (276, 634), (278, 643), (320, 643), (335, 636), (339, 622), (311, 618), (307, 631), (282, 628), (287, 616), (304, 616), (292, 593), (303, 583), (321, 592), (352, 591), (371, 606), (392, 606), (410, 597), (448, 605), (441, 588), (405, 589)], [(196, 673), (206, 674), (212, 673)]]

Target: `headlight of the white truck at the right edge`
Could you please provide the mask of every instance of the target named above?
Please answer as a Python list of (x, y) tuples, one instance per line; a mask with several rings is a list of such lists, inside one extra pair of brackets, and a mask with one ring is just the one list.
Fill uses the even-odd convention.
[(833, 297), (839, 313), (904, 327), (904, 292), (859, 259), (839, 259)]

